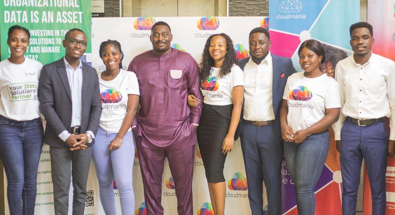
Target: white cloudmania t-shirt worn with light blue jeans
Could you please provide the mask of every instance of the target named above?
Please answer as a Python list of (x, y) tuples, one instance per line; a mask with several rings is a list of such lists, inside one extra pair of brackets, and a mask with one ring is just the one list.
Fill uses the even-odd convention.
[(108, 132), (117, 133), (127, 111), (128, 94), (140, 94), (137, 77), (132, 71), (120, 69), (114, 79), (103, 80), (101, 73), (98, 72), (103, 110), (99, 126)]

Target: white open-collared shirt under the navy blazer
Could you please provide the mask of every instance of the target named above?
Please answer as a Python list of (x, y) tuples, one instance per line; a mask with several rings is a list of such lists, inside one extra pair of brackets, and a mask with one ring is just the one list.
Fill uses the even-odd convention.
[(252, 57), (244, 66), (244, 115), (245, 120), (268, 121), (274, 119), (273, 63), (270, 52), (257, 65)]

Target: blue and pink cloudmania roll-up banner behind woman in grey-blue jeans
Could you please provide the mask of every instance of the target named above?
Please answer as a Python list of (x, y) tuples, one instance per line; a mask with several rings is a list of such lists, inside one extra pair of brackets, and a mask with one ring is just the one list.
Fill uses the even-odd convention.
[[(324, 44), (322, 71), (334, 69), (336, 63), (352, 53), (349, 26), (359, 21), (359, 0), (270, 0), (270, 52), (292, 58), (301, 71), (297, 49), (306, 39)], [(341, 214), (341, 172), (333, 131), (330, 149), (321, 176), (315, 186), (315, 214)], [(282, 213), (297, 214), (295, 191), (286, 162), (282, 168)]]

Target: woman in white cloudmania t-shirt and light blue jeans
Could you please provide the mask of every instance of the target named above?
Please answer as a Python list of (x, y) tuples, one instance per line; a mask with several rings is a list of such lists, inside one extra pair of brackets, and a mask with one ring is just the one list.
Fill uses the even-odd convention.
[(134, 72), (122, 69), (123, 53), (118, 41), (101, 42), (99, 55), (105, 65), (105, 70), (98, 73), (103, 110), (92, 158), (100, 201), (105, 214), (117, 214), (113, 193), (116, 186), (122, 214), (134, 214), (134, 141), (130, 126), (139, 98), (137, 77)]

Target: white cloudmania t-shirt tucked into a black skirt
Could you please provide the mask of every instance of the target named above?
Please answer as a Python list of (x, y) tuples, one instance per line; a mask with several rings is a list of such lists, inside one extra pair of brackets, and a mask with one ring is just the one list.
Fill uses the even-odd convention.
[(244, 73), (237, 65), (233, 64), (226, 75), (219, 76), (219, 68), (212, 67), (207, 80), (200, 84), (203, 102), (212, 105), (232, 104), (233, 86), (244, 85)]

